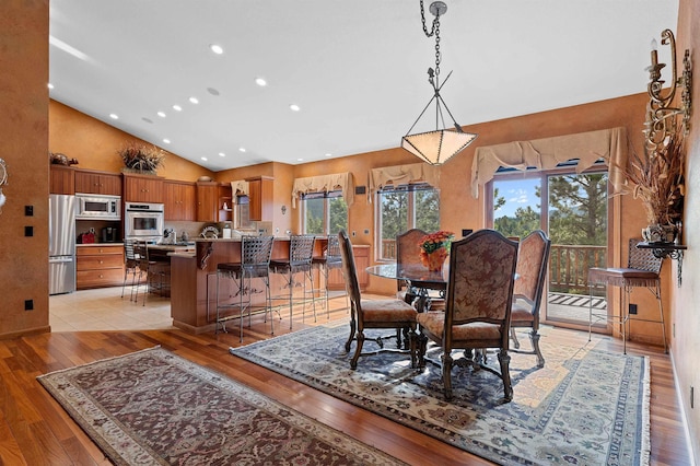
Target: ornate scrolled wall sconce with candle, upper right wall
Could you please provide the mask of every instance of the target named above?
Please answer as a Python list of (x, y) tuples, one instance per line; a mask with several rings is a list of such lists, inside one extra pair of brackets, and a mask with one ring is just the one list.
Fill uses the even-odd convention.
[[(673, 72), (673, 81), (670, 88), (664, 95), (664, 83), (661, 70), (666, 63), (660, 63), (656, 53), (656, 39), (652, 40), (652, 65), (646, 68), (649, 71), (649, 106), (646, 108), (646, 123), (644, 124), (644, 133), (646, 135), (646, 149), (650, 153), (657, 153), (660, 149), (667, 142), (668, 137), (674, 133), (678, 127), (677, 116), (681, 117), (681, 129), (684, 136), (690, 130), (690, 113), (691, 113), (691, 81), (692, 66), (690, 63), (690, 50), (686, 49), (682, 59), (682, 74), (680, 78), (676, 71), (676, 39), (670, 30), (664, 30), (661, 33), (662, 45), (670, 46), (670, 68)], [(674, 107), (674, 98), (676, 97), (676, 89), (680, 88), (680, 107)]]

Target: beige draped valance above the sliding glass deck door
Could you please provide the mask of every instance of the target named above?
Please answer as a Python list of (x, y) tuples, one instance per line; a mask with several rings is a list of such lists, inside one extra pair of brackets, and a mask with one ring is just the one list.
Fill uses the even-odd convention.
[(615, 191), (620, 191), (625, 175), (618, 167), (627, 165), (627, 130), (621, 127), (477, 148), (471, 164), (471, 196), (478, 198), (479, 186), (493, 178), (501, 166), (523, 171), (528, 166), (548, 170), (561, 162), (579, 159), (576, 173), (581, 173), (600, 158), (609, 167)]

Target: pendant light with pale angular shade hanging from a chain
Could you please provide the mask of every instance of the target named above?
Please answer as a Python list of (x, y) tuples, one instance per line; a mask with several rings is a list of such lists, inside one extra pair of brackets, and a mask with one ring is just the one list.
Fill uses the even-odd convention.
[[(433, 95), (413, 125), (409, 128), (406, 136), (401, 138), (401, 147), (404, 149), (431, 165), (442, 165), (450, 158), (462, 152), (477, 138), (477, 135), (464, 132), (462, 130), (462, 127), (457, 121), (455, 121), (455, 118), (452, 116), (450, 108), (447, 108), (445, 101), (443, 101), (440, 95), (442, 86), (447, 82), (452, 74), (451, 71), (450, 74), (447, 74), (447, 78), (445, 78), (442, 83), (440, 82), (440, 62), (442, 60), (440, 53), (440, 16), (445, 14), (446, 11), (447, 5), (442, 1), (434, 1), (430, 4), (430, 12), (435, 16), (435, 19), (433, 20), (432, 30), (428, 32), (428, 27), (425, 26), (423, 0), (420, 0), (420, 16), (423, 23), (423, 33), (425, 33), (425, 37), (435, 37), (435, 68), (428, 69), (428, 82), (433, 88)], [(416, 124), (421, 119), (433, 102), (435, 103), (435, 130), (411, 135), (410, 132), (416, 127)], [(443, 110), (450, 115), (450, 118), (452, 118), (454, 128), (445, 128)], [(442, 124), (443, 129), (440, 129), (440, 124)]]

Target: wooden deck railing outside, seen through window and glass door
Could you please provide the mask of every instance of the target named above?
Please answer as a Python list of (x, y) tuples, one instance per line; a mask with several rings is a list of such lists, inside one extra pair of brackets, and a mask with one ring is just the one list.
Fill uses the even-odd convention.
[[(549, 291), (587, 293), (588, 269), (606, 267), (605, 246), (552, 244), (549, 255)], [(396, 258), (396, 241), (382, 240), (382, 257)]]

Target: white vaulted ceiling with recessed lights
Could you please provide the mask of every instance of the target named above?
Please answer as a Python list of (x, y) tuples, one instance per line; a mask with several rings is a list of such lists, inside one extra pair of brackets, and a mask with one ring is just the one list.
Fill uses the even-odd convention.
[[(467, 128), (644, 92), (651, 40), (678, 14), (677, 0), (445, 2), (442, 96)], [(51, 0), (50, 44), (51, 98), (212, 171), (398, 147), (432, 96), (417, 0)]]

